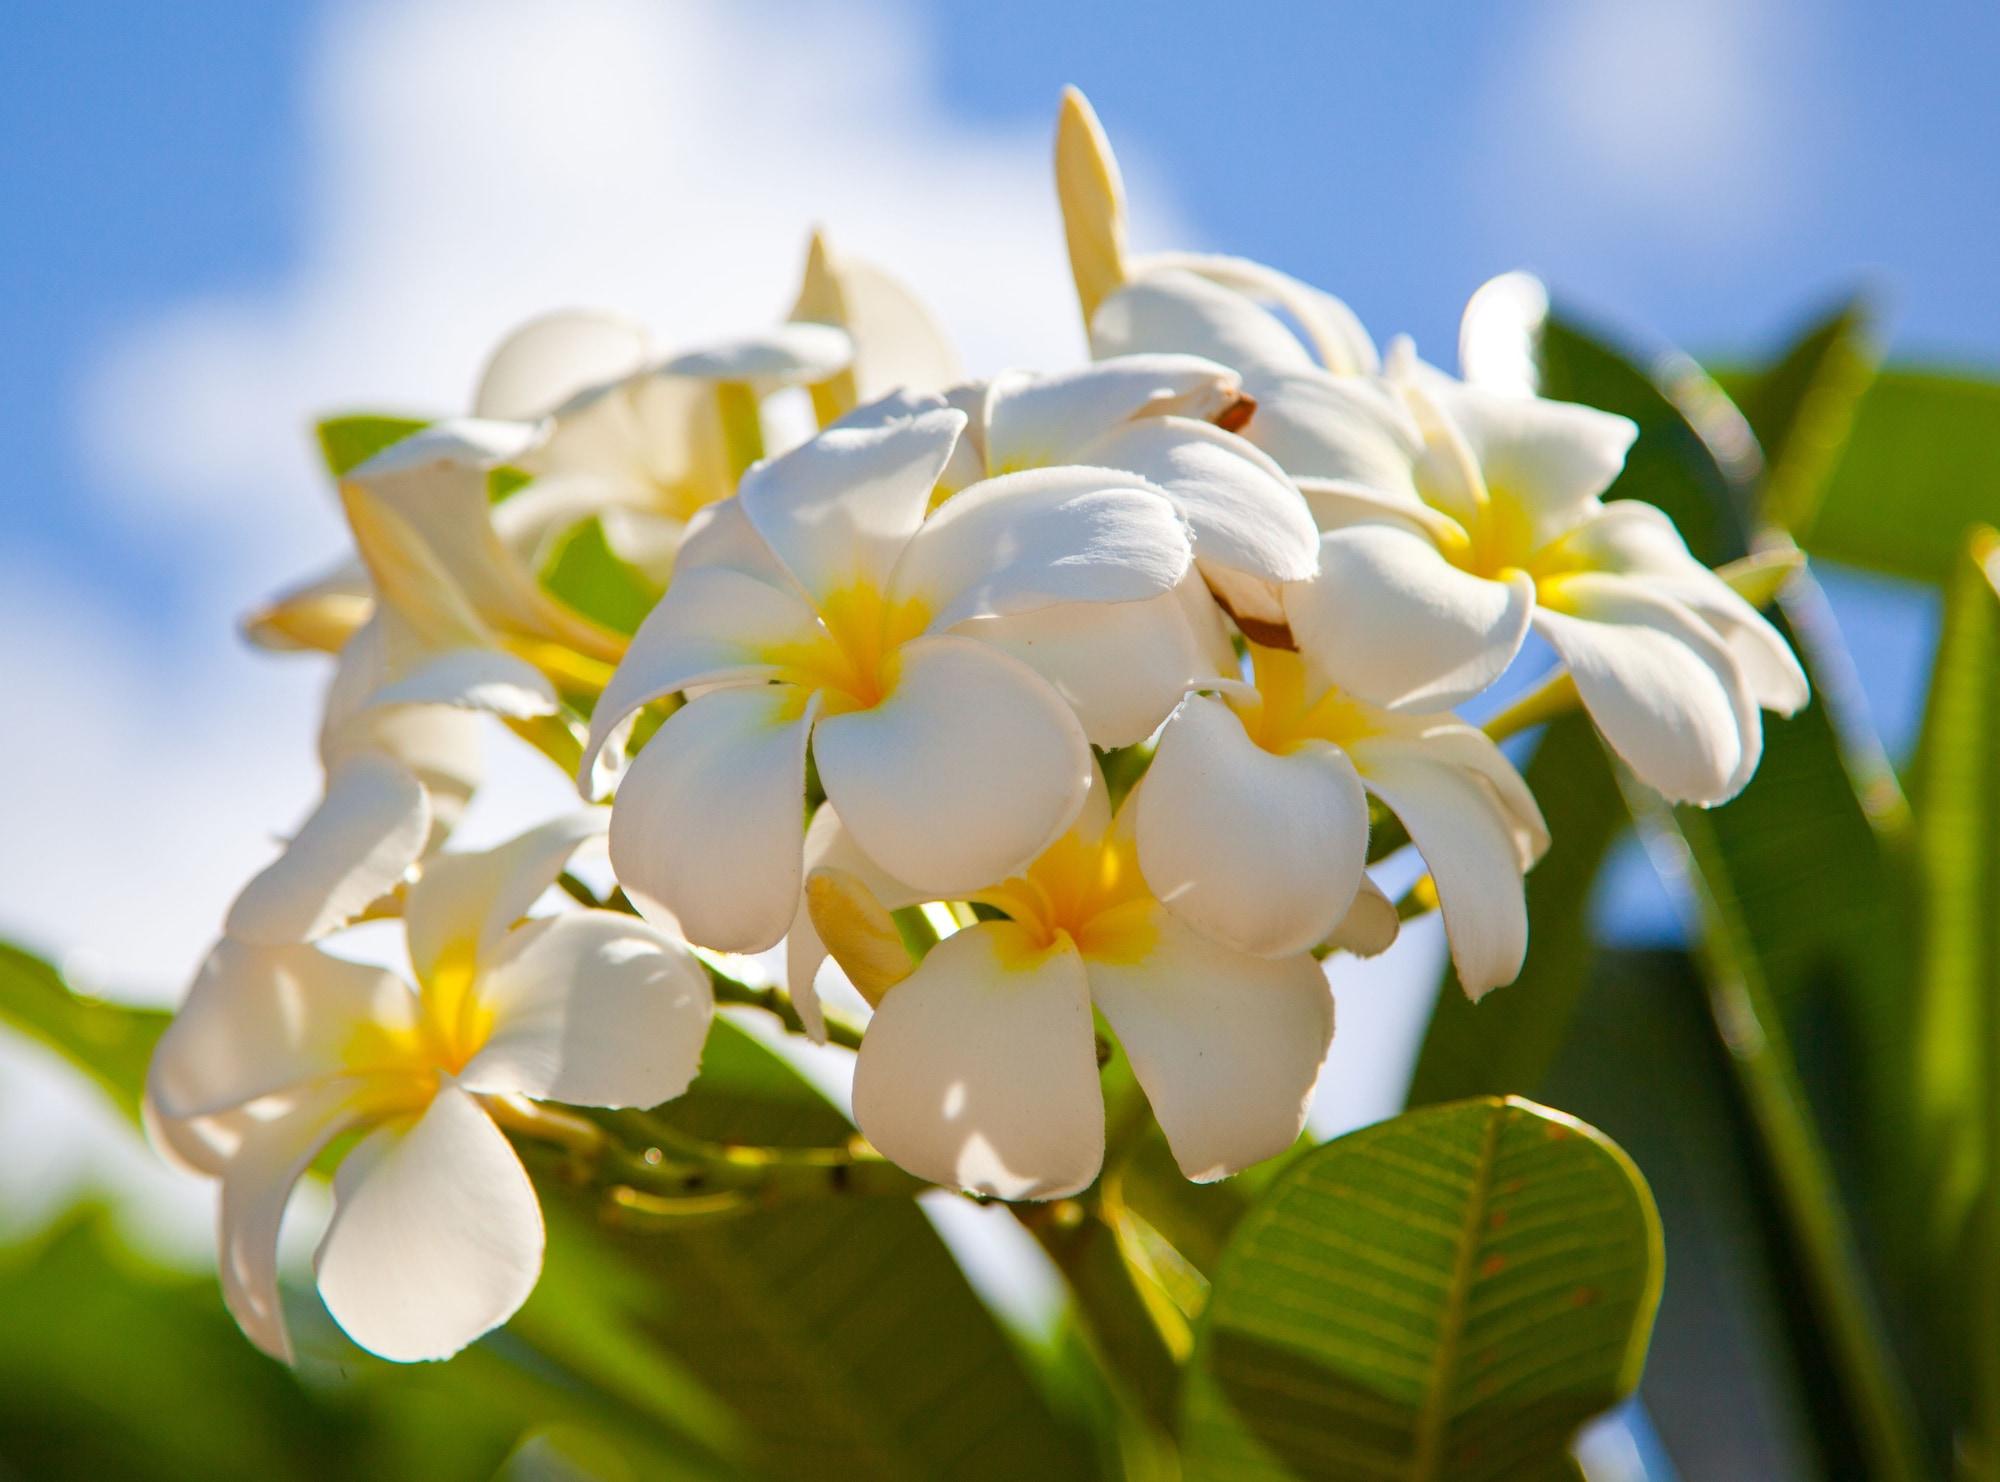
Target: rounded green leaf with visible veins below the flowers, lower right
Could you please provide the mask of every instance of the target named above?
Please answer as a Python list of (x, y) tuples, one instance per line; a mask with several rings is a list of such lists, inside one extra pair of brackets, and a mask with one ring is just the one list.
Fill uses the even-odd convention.
[(1348, 1134), (1222, 1258), (1188, 1478), (1558, 1476), (1638, 1384), (1660, 1278), (1644, 1178), (1574, 1118), (1480, 1098)]

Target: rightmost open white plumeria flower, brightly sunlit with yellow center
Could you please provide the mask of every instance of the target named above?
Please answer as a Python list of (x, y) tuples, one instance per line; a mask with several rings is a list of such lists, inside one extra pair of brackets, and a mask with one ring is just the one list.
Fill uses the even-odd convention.
[(1320, 576), (1286, 616), (1336, 684), (1436, 710), (1492, 684), (1532, 626), (1632, 770), (1716, 804), (1756, 772), (1760, 708), (1806, 676), (1666, 514), (1600, 496), (1636, 428), (1588, 406), (1452, 382), (1402, 358), (1314, 426), (1344, 476), (1310, 492)]

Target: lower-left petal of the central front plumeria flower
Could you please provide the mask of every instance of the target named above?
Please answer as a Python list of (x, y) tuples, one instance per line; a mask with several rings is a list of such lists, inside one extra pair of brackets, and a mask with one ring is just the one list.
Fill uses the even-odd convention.
[(632, 902), (716, 952), (762, 952), (798, 906), (818, 696), (752, 684), (690, 700), (632, 762), (612, 868)]

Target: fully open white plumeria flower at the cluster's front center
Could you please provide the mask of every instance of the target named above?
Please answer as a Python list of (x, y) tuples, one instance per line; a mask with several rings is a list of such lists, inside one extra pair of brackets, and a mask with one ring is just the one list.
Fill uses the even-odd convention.
[[(626, 892), (688, 940), (758, 952), (784, 936), (808, 740), (862, 848), (934, 894), (1008, 874), (1076, 818), (1090, 786), (1076, 716), (1030, 664), (968, 634), (1056, 604), (1084, 626), (1100, 604), (1168, 592), (1188, 532), (1164, 494), (1102, 468), (986, 480), (926, 518), (964, 420), (836, 424), (750, 470), (690, 534), (604, 692), (586, 790), (628, 716), (688, 692), (612, 814)], [(1096, 684), (1132, 680), (1112, 668)]]

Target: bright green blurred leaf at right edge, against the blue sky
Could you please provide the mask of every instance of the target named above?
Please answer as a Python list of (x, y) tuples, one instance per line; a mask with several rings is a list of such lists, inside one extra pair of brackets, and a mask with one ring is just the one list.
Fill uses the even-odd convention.
[(2000, 504), (2000, 382), (1884, 370), (1862, 396), (1818, 514), (1798, 532), (1832, 556), (1944, 582), (1966, 532)]

